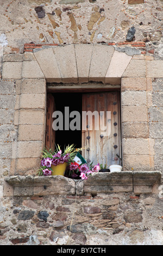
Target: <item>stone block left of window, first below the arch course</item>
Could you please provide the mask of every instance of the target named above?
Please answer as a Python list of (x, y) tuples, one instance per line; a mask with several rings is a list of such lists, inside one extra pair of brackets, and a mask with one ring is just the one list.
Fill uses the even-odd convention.
[(22, 94), (23, 93), (46, 93), (46, 80), (45, 79), (25, 79), (22, 81)]

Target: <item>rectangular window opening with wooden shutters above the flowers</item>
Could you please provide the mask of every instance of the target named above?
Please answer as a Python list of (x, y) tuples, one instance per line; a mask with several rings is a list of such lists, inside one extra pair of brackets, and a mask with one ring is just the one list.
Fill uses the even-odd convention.
[[(59, 144), (62, 149), (65, 145), (76, 145), (77, 148), (84, 148), (82, 156), (86, 161), (93, 163), (102, 163), (110, 166), (111, 164), (122, 164), (121, 157), (121, 119), (120, 119), (120, 92), (52, 92), (47, 94), (51, 98), (49, 103), (53, 107), (47, 107), (47, 128), (46, 128), (46, 146), (52, 148), (54, 144)], [(65, 112), (65, 107), (68, 112)], [(50, 112), (48, 112), (50, 109)], [(50, 129), (53, 121), (52, 114), (54, 111), (60, 111), (63, 117), (63, 129), (55, 130)], [(69, 124), (76, 117), (70, 117), (70, 113), (76, 111), (80, 113), (80, 129), (78, 130), (65, 130), (65, 116), (69, 114)], [(108, 111), (108, 122), (110, 122), (110, 133), (109, 136), (96, 130), (95, 116), (92, 115), (92, 130), (86, 129), (82, 131), (83, 119), (82, 112), (85, 111)], [(51, 117), (51, 118), (49, 118)], [(102, 115), (99, 115), (99, 119)], [(49, 121), (50, 120), (50, 121)], [(79, 120), (79, 119), (78, 119)], [(86, 119), (88, 120), (88, 119)], [(95, 124), (95, 125), (94, 125)], [(106, 114), (105, 114), (106, 124)], [(74, 126), (77, 126), (74, 123)], [(89, 125), (87, 124), (87, 127)], [(53, 141), (53, 142), (52, 142)]]

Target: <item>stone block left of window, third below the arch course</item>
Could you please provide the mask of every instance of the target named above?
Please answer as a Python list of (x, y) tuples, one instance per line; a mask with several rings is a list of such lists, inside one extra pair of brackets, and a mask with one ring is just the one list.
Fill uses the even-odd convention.
[(21, 109), (18, 115), (18, 124), (44, 124), (45, 121), (43, 109)]

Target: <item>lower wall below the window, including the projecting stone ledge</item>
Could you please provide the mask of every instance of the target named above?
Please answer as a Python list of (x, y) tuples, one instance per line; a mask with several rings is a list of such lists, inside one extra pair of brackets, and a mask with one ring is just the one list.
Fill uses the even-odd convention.
[(0, 244), (162, 245), (160, 173), (120, 174), (7, 177)]

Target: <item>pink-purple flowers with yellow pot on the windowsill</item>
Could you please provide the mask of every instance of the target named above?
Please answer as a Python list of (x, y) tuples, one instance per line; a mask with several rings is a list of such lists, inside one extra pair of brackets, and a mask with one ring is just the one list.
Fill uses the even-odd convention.
[(80, 150), (82, 149), (74, 148), (74, 145), (68, 145), (64, 153), (59, 145), (55, 151), (44, 149), (38, 175), (65, 175), (68, 178), (86, 180), (87, 175), (99, 172), (99, 164), (88, 167)]

